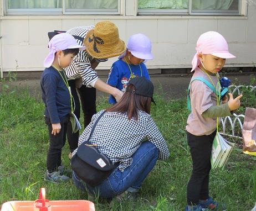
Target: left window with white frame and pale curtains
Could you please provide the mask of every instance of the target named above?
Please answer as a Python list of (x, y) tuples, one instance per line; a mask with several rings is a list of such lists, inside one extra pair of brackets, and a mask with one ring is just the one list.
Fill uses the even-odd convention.
[(120, 14), (120, 0), (7, 0), (7, 14)]

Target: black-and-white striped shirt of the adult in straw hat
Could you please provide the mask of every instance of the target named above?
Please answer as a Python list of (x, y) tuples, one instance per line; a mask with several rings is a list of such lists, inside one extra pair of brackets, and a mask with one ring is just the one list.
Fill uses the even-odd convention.
[[(91, 25), (89, 27), (75, 27), (66, 31), (66, 33), (80, 36), (81, 38), (85, 38), (88, 31), (93, 28), (94, 25)], [(79, 45), (84, 46), (81, 40), (76, 39), (76, 42)], [(79, 51), (78, 55), (75, 56), (74, 61), (71, 63), (71, 65), (64, 68), (68, 79), (74, 80), (76, 78), (82, 77), (83, 85), (91, 87), (90, 83), (98, 80), (99, 78), (96, 71), (93, 68), (91, 68), (91, 60), (93, 59), (94, 58), (90, 56), (86, 50)], [(97, 59), (96, 61), (102, 62), (107, 61), (107, 59)]]

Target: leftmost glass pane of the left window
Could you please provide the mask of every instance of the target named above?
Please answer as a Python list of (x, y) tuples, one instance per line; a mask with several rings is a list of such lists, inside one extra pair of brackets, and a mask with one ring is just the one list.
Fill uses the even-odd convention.
[(8, 9), (55, 9), (62, 8), (62, 0), (8, 0)]

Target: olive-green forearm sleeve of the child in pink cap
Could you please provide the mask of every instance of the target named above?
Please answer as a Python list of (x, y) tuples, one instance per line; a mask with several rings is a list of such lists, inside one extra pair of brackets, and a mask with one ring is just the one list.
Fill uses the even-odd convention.
[(203, 117), (216, 118), (216, 117), (227, 117), (231, 115), (228, 103), (222, 105), (212, 105), (205, 112), (203, 112)]

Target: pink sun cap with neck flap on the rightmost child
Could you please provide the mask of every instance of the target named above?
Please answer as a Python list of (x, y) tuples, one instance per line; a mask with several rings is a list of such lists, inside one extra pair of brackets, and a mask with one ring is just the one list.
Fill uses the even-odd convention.
[(200, 64), (198, 59), (198, 54), (211, 54), (223, 59), (235, 58), (228, 51), (228, 43), (226, 39), (216, 31), (207, 31), (199, 36), (196, 46), (196, 54), (192, 60), (192, 70), (191, 72)]

